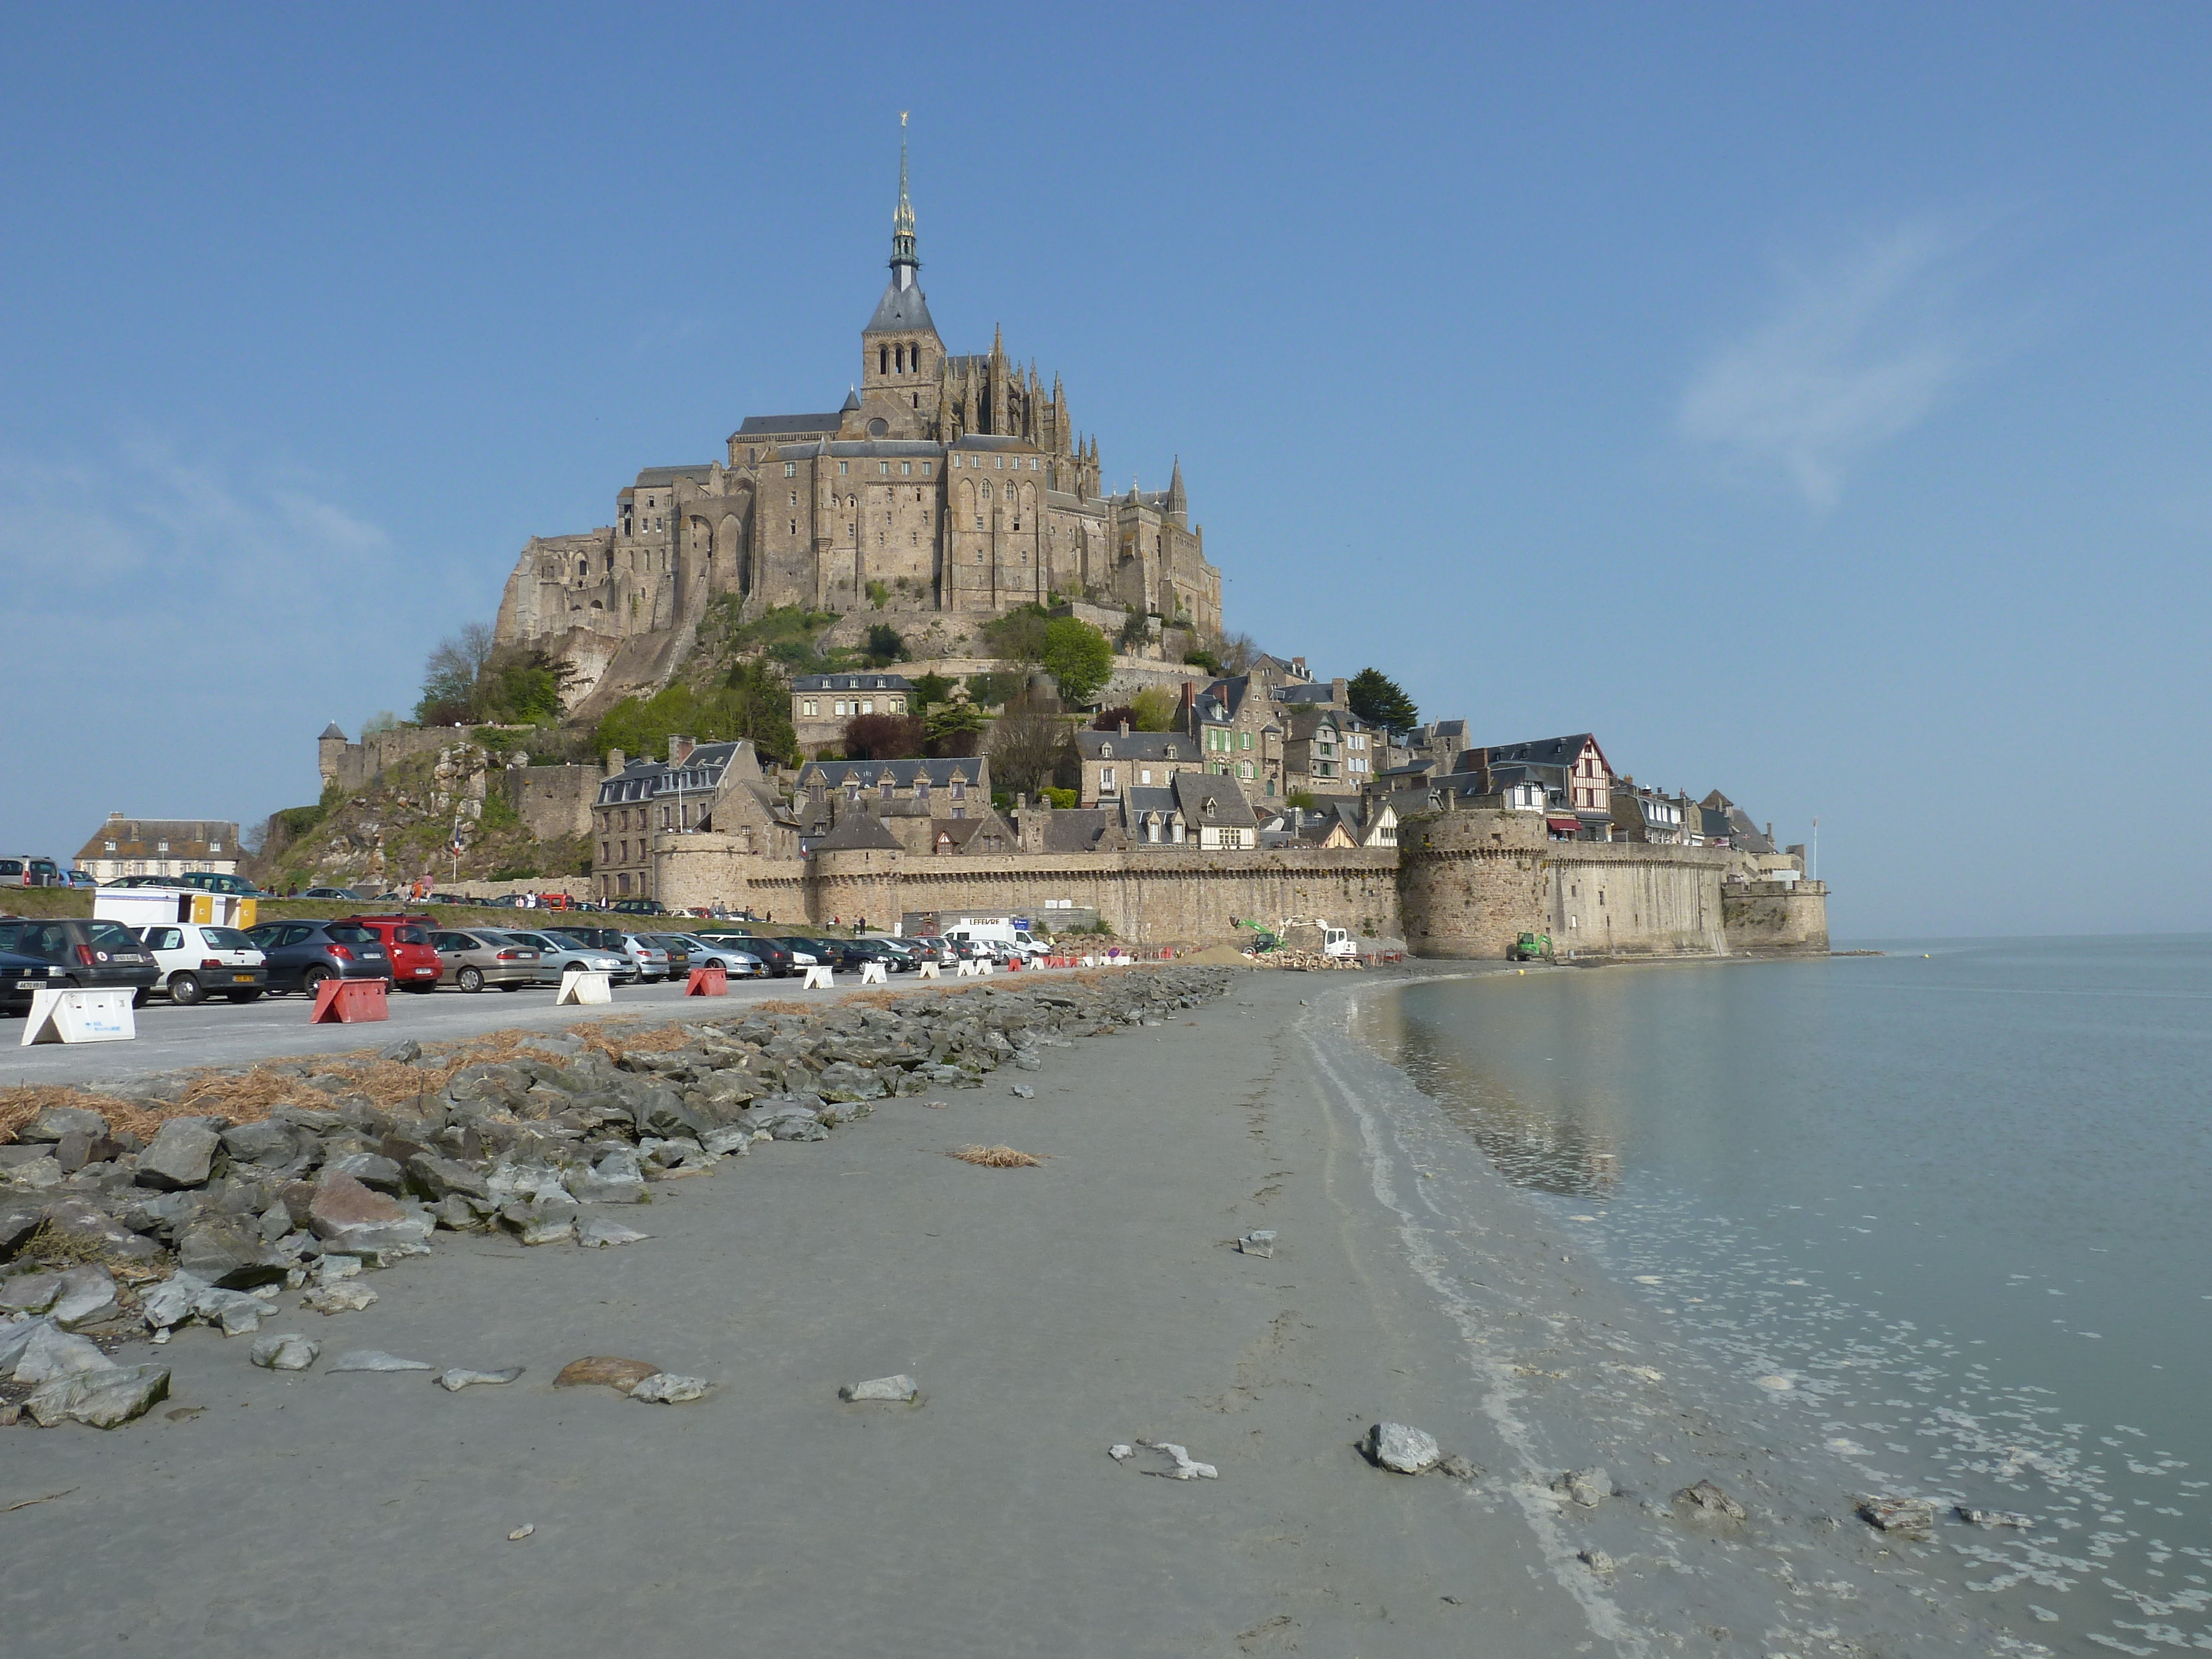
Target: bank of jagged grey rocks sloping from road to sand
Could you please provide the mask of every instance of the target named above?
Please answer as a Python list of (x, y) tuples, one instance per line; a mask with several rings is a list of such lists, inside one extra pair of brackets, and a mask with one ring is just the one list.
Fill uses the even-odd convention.
[[(49, 1356), (69, 1327), (142, 1321), (155, 1340), (168, 1340), (199, 1321), (237, 1336), (274, 1316), (272, 1296), (285, 1290), (301, 1292), (310, 1312), (352, 1314), (378, 1301), (356, 1283), (361, 1267), (422, 1254), (438, 1232), (502, 1232), (535, 1245), (641, 1243), (641, 1228), (606, 1210), (648, 1206), (655, 1186), (712, 1175), (761, 1141), (823, 1141), (889, 1102), (938, 1106), (947, 1091), (982, 1088), (993, 1071), (1035, 1073), (1048, 1048), (1071, 1048), (1073, 1037), (1161, 1026), (1221, 995), (1230, 978), (1214, 967), (1141, 967), (918, 989), (807, 1013), (604, 1024), (591, 1026), (588, 1040), (509, 1040), (509, 1057), (469, 1064), (403, 1042), (372, 1064), (374, 1088), (369, 1073), (343, 1057), (113, 1088), (113, 1097), (164, 1117), (150, 1139), (88, 1106), (49, 1104), (4, 1148), (18, 1157), (0, 1161), (0, 1376), (20, 1369), (33, 1340), (33, 1369), (60, 1363)], [(394, 1091), (394, 1066), (420, 1086)], [(208, 1093), (210, 1077), (248, 1073), (250, 1088), (281, 1082), (292, 1099), (246, 1124), (201, 1110), (221, 1097)], [(1031, 1099), (1026, 1091), (1018, 1084), (1013, 1095)], [(195, 1115), (170, 1115), (179, 1108)], [(40, 1241), (58, 1250), (40, 1250)], [(42, 1261), (9, 1265), (24, 1248)], [(71, 1261), (111, 1263), (124, 1283), (104, 1265)], [(146, 1267), (166, 1261), (175, 1267), (148, 1281)], [(265, 1352), (312, 1363), (310, 1338), (281, 1343)], [(323, 1369), (352, 1369), (354, 1358)], [(111, 1427), (168, 1387), (161, 1367), (108, 1360), (108, 1369), (146, 1376), (128, 1387), (108, 1383), (97, 1396), (55, 1394), (38, 1411), (27, 1402), (29, 1418)], [(64, 1369), (38, 1387), (82, 1374)], [(648, 1378), (655, 1385), (639, 1391)], [(622, 1380), (568, 1371), (560, 1380), (611, 1383), (661, 1402), (706, 1391), (657, 1365)]]

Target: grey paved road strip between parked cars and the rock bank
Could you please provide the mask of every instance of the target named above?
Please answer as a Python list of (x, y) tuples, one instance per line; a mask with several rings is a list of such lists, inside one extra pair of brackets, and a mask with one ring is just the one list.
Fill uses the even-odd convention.
[[(1062, 969), (1026, 969), (1024, 973), (1057, 973)], [(686, 1011), (728, 1011), (776, 998), (827, 1000), (860, 989), (854, 973), (836, 975), (836, 991), (801, 991), (803, 980), (730, 980), (721, 1002), (684, 995), (684, 980), (664, 984), (617, 984), (611, 1009), (553, 1006), (553, 987), (522, 991), (440, 989), (429, 995), (400, 993), (389, 998), (392, 1018), (380, 1024), (312, 1026), (314, 1006), (305, 995), (263, 998), (234, 1006), (206, 1002), (179, 1009), (168, 1000), (148, 1002), (137, 1011), (137, 1037), (131, 1042), (38, 1044), (20, 1046), (24, 1020), (0, 1020), (0, 1088), (9, 1084), (80, 1084), (122, 1082), (184, 1066), (237, 1066), (252, 1060), (288, 1060), (292, 1055), (347, 1053), (380, 1048), (400, 1037), (416, 1042), (453, 1042), (482, 1031), (509, 1026), (560, 1029), (602, 1015), (670, 1018)], [(885, 989), (914, 989), (911, 973), (894, 973)], [(920, 980), (920, 984), (933, 984)], [(953, 984), (945, 969), (945, 984)], [(964, 980), (962, 980), (964, 984)]]

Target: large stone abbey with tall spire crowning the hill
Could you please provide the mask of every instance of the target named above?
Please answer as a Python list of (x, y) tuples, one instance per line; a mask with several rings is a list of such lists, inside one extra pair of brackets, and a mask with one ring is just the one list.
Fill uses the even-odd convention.
[(916, 281), (898, 153), (891, 281), (860, 330), (860, 380), (830, 414), (748, 416), (723, 460), (648, 467), (617, 522), (531, 538), (500, 602), (504, 644), (568, 659), (577, 690), (666, 672), (708, 599), (971, 619), (1060, 595), (1221, 633), (1221, 571), (1181, 465), (1164, 491), (1106, 495), (1097, 438), (1053, 378), (953, 356)]

